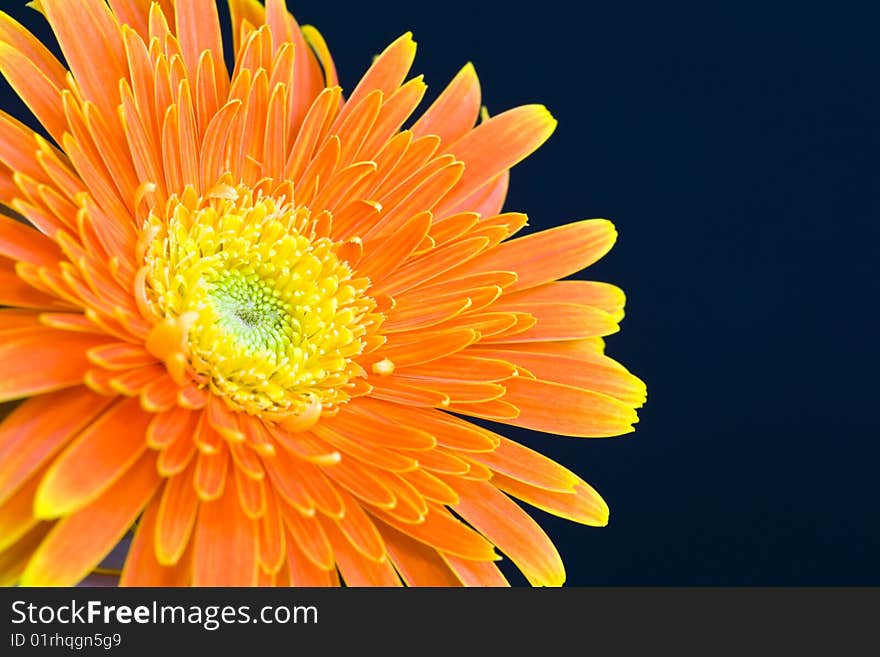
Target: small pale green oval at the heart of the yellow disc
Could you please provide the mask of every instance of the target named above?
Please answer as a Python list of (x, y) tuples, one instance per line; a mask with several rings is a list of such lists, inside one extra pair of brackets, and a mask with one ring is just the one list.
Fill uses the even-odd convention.
[(209, 289), (218, 325), (247, 351), (279, 353), (299, 334), (287, 304), (257, 276), (226, 271)]

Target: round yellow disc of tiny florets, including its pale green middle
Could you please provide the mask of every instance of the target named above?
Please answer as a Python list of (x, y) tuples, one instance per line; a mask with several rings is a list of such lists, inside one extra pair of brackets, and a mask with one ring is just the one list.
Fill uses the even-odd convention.
[[(344, 403), (375, 302), (307, 208), (223, 186), (145, 227), (145, 296), (189, 375), (231, 408), (283, 419)], [(163, 356), (164, 357), (164, 356)], [(166, 358), (168, 362), (168, 358)], [(169, 371), (171, 367), (169, 365)], [(310, 411), (310, 412), (311, 412)]]

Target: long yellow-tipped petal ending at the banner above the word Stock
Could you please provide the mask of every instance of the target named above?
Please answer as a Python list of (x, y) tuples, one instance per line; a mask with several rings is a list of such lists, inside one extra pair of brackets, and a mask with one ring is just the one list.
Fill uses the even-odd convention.
[(22, 586), (72, 586), (94, 570), (131, 528), (160, 478), (144, 454), (100, 497), (59, 521), (21, 576)]

